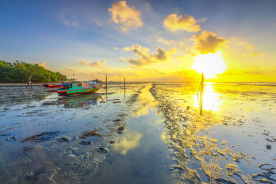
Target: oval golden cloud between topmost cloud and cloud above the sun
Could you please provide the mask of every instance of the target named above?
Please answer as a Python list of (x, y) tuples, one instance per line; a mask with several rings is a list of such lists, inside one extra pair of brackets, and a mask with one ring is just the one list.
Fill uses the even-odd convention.
[(168, 15), (163, 22), (165, 28), (170, 32), (175, 32), (178, 30), (186, 30), (187, 32), (199, 32), (201, 27), (197, 24), (197, 21), (193, 16), (188, 14), (183, 14), (177, 16), (177, 14)]

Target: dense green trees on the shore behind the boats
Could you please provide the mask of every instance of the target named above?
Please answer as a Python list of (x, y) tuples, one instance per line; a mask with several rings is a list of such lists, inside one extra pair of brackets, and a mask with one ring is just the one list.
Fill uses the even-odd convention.
[[(30, 64), (22, 61), (0, 61), (0, 82), (23, 83), (28, 82), (28, 77), (32, 75), (32, 82), (57, 82), (61, 81), (61, 73), (46, 70), (39, 64)], [(67, 77), (63, 75), (63, 81)]]

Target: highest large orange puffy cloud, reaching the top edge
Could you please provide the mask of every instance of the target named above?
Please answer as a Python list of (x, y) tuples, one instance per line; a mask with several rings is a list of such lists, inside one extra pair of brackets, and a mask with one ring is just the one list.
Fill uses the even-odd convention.
[(121, 31), (139, 28), (143, 25), (140, 17), (141, 12), (134, 7), (129, 7), (126, 1), (113, 2), (108, 11), (111, 14), (111, 21), (119, 25)]

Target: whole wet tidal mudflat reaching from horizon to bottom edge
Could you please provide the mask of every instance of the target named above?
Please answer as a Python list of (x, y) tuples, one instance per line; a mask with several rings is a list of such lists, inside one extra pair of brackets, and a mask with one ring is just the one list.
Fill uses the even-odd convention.
[(0, 183), (276, 183), (276, 83), (0, 86)]

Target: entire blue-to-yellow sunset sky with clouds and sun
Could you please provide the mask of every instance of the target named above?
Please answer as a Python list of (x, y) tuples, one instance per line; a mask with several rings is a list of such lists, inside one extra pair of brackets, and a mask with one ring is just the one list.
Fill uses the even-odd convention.
[(276, 82), (276, 1), (0, 1), (0, 60), (88, 81)]

